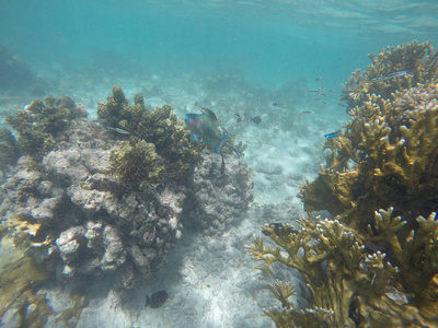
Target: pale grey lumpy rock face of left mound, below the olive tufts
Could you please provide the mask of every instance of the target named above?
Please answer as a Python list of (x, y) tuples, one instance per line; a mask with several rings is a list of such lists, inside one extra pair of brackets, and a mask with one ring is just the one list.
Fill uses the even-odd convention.
[(28, 243), (39, 247), (25, 251), (56, 267), (58, 279), (114, 271), (122, 290), (162, 266), (181, 237), (185, 196), (177, 187), (132, 189), (110, 173), (110, 143), (96, 125), (77, 121), (37, 171), (26, 167), (25, 156), (19, 161), (1, 187), (0, 212), (11, 218), (4, 224), (15, 224), (16, 226), (38, 224)]

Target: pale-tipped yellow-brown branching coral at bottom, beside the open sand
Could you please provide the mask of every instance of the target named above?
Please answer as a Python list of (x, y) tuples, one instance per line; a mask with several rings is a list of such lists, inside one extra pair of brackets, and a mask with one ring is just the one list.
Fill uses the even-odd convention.
[[(427, 222), (434, 225), (430, 218)], [(403, 272), (388, 261), (385, 254), (368, 254), (357, 233), (338, 221), (302, 220), (300, 224), (297, 233), (290, 233), (292, 227), (287, 224), (277, 232), (265, 225), (263, 230), (277, 247), (265, 246), (261, 238), (247, 247), (253, 259), (263, 262), (260, 270), (264, 273), (272, 273), (273, 265), (279, 262), (297, 269), (306, 283), (306, 303), (301, 306), (289, 300), (295, 294), (290, 284), (277, 281), (269, 286), (281, 307), (265, 315), (277, 327), (430, 327), (436, 317), (422, 316), (403, 288), (394, 286)], [(436, 224), (434, 229), (436, 232)], [(422, 232), (430, 236), (430, 229)], [(436, 238), (430, 238), (429, 245)], [(425, 303), (429, 311), (436, 305)]]

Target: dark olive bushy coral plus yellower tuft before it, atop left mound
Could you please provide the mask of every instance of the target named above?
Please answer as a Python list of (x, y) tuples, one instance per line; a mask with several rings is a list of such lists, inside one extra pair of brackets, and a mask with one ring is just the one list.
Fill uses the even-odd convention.
[[(101, 101), (97, 105), (99, 118), (114, 131), (115, 138), (126, 139), (127, 136), (118, 133), (116, 129), (130, 136), (129, 143), (125, 142), (120, 150), (114, 152), (111, 159), (113, 169), (132, 180), (140, 178), (137, 179), (138, 184), (157, 181), (164, 175), (168, 180), (187, 183), (200, 160), (204, 145), (189, 141), (189, 131), (177, 119), (172, 106), (147, 110), (141, 94), (136, 94), (134, 98), (134, 106), (129, 106), (122, 87), (115, 84), (107, 102)], [(132, 156), (135, 160), (130, 161)], [(145, 160), (140, 163), (139, 157)], [(143, 173), (148, 176), (138, 176), (141, 174), (138, 165), (148, 166)]]

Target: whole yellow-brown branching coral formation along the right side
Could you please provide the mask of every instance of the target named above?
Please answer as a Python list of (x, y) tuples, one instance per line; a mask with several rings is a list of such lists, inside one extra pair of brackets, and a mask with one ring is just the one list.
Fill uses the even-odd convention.
[(283, 305), (266, 312), (277, 327), (437, 325), (437, 56), (414, 42), (353, 73), (343, 96), (351, 119), (326, 139), (325, 167), (300, 190), (310, 215), (335, 220), (302, 220), (299, 232), (267, 225), (277, 247), (250, 246), (264, 272), (280, 262), (306, 282), (301, 307), (289, 284), (270, 288)]

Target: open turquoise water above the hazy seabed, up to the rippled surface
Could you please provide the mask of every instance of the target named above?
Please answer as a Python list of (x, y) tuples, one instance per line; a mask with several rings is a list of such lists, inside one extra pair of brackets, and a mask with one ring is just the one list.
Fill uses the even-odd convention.
[(0, 45), (37, 73), (96, 70), (141, 78), (230, 69), (266, 85), (300, 75), (341, 83), (369, 65), (367, 54), (435, 40), (438, 31), (436, 1), (0, 3)]

